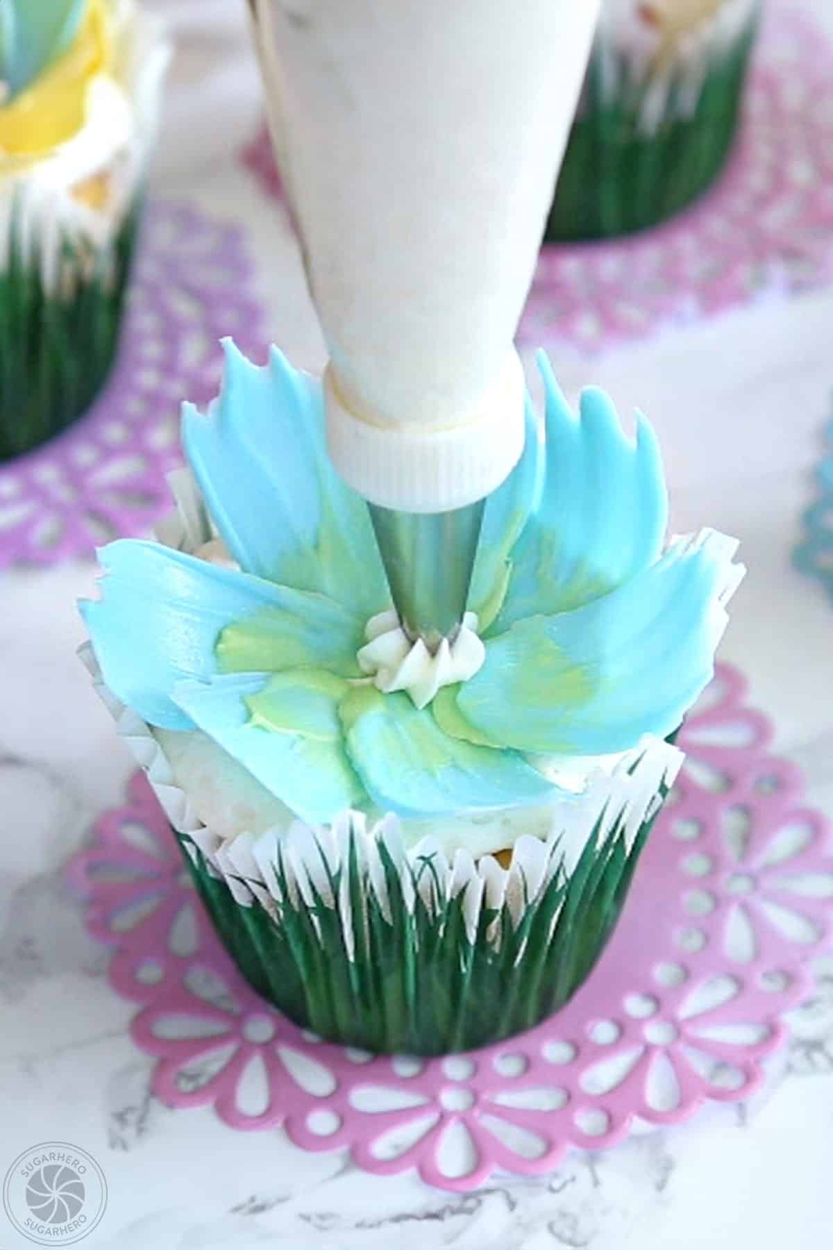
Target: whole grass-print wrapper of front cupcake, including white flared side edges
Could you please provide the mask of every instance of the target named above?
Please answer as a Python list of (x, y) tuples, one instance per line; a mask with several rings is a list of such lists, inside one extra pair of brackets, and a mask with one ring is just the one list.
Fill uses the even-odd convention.
[[(547, 841), (520, 839), (508, 869), (398, 822), (343, 812), (327, 829), (224, 840), (196, 816), (151, 729), (81, 659), (147, 774), (194, 882), (246, 980), (297, 1024), (376, 1052), (470, 1050), (561, 1006), (602, 952), (682, 754), (654, 744), (611, 779), (608, 801)], [(574, 862), (562, 848), (578, 846)]]

